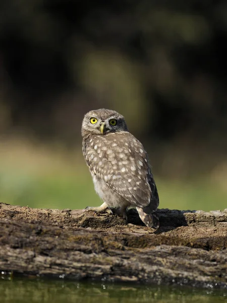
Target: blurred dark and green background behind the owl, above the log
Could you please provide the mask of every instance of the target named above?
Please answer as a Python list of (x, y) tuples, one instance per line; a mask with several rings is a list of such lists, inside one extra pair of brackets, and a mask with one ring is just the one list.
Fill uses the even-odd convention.
[(0, 201), (100, 205), (84, 114), (123, 114), (160, 208), (227, 207), (227, 3), (1, 0)]

